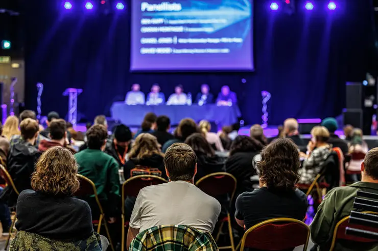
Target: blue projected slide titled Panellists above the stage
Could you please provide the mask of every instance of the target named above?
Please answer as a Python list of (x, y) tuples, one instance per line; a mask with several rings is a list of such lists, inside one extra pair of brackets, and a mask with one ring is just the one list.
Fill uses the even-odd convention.
[(133, 0), (131, 71), (253, 70), (252, 0)]

